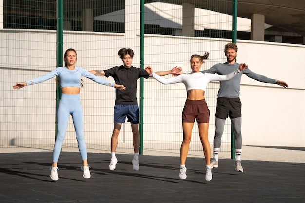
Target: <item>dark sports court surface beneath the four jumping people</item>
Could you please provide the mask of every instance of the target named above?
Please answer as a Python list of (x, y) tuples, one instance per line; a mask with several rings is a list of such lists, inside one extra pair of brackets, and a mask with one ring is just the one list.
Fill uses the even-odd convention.
[(178, 156), (141, 155), (139, 171), (132, 157), (117, 154), (110, 171), (109, 153), (88, 153), (84, 179), (79, 152), (62, 152), (54, 182), (52, 151), (0, 153), (0, 203), (305, 203), (305, 163), (242, 160), (241, 173), (220, 159), (207, 182), (202, 157), (187, 158), (186, 180)]

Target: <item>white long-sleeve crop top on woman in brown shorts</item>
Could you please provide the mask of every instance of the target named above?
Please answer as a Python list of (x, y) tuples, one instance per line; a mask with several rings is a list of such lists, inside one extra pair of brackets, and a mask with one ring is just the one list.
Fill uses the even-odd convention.
[(217, 75), (217, 74), (208, 74), (208, 73), (201, 73), (201, 72), (191, 72), (187, 74), (181, 74), (177, 77), (170, 77), (164, 78), (155, 73), (152, 73), (152, 77), (161, 82), (162, 84), (174, 84), (182, 82), (186, 90), (194, 90), (199, 89), (206, 91), (206, 87), (209, 82), (211, 81), (227, 81), (232, 79), (235, 75), (239, 74), (241, 71), (236, 69), (230, 74), (227, 75)]

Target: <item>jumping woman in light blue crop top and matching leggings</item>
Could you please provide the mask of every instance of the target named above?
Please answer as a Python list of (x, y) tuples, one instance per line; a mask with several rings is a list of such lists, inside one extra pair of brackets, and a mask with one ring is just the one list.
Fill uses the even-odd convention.
[(58, 177), (58, 159), (62, 148), (62, 143), (66, 134), (66, 129), (68, 125), (69, 116), (72, 115), (73, 124), (76, 132), (76, 139), (78, 142), (79, 152), (83, 160), (83, 166), (81, 169), (83, 171), (84, 178), (90, 178), (90, 171), (87, 161), (87, 149), (83, 134), (84, 122), (82, 108), (80, 104), (80, 87), (81, 77), (87, 77), (99, 84), (115, 87), (119, 90), (125, 90), (123, 85), (117, 85), (102, 78), (99, 78), (83, 68), (75, 66), (77, 61), (77, 53), (74, 49), (68, 49), (64, 54), (65, 67), (57, 67), (53, 71), (43, 76), (37, 77), (35, 79), (18, 82), (13, 88), (20, 89), (27, 85), (37, 84), (49, 80), (55, 76), (59, 77), (59, 83), (61, 88), (61, 99), (58, 107), (58, 134), (53, 148), (53, 163), (50, 167), (51, 175), (50, 178), (54, 181), (59, 179)]

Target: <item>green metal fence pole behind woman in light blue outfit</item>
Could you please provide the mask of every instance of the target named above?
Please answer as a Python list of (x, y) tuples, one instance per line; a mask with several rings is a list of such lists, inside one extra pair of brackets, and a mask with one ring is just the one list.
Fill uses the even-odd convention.
[[(56, 31), (56, 67), (62, 66), (62, 50), (63, 50), (63, 0), (57, 0), (57, 31)], [(57, 80), (59, 78), (57, 77)], [(61, 97), (61, 90), (59, 83), (56, 83), (56, 112), (55, 112), (55, 140), (58, 134), (58, 120), (57, 111), (59, 100)]]

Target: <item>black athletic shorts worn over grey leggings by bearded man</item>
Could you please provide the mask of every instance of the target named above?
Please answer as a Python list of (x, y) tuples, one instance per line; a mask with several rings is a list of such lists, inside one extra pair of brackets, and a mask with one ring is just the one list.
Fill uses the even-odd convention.
[(226, 119), (228, 118), (242, 117), (242, 103), (239, 98), (217, 98), (216, 106), (216, 118)]

